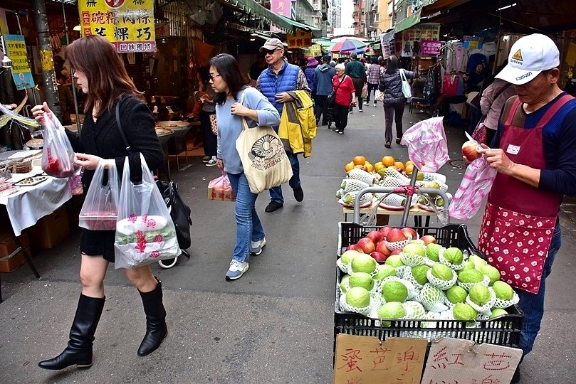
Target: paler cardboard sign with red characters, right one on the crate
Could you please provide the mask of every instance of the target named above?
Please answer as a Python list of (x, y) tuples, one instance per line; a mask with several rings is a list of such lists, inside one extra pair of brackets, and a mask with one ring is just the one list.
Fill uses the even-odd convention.
[(430, 346), (422, 384), (510, 383), (522, 350), (440, 338)]

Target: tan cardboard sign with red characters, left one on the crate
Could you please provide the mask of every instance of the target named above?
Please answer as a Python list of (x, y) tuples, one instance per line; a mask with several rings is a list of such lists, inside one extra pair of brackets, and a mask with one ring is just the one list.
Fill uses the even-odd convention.
[(378, 338), (337, 334), (334, 384), (420, 383), (426, 359), (425, 338)]

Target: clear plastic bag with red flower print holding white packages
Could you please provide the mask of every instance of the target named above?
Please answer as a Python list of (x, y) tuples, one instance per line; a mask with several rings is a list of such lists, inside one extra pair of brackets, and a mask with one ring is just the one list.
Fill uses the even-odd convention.
[(130, 180), (128, 157), (122, 171), (114, 242), (116, 269), (172, 259), (182, 252), (168, 208), (142, 154), (140, 166), (140, 183)]

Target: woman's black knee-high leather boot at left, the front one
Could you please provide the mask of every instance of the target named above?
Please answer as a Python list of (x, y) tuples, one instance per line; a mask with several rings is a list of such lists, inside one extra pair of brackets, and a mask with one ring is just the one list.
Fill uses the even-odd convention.
[(99, 299), (80, 294), (76, 315), (70, 328), (70, 341), (66, 349), (55, 358), (38, 363), (44, 369), (64, 369), (69, 366), (92, 366), (92, 342), (100, 321), (105, 298)]

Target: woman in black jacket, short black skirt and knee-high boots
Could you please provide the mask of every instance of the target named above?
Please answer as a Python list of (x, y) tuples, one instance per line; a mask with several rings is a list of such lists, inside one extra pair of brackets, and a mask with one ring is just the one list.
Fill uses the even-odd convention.
[[(106, 166), (115, 164), (118, 170), (123, 169), (127, 151), (116, 124), (115, 108), (118, 103), (120, 122), (132, 147), (132, 154), (142, 154), (150, 169), (161, 165), (164, 154), (154, 129), (152, 112), (143, 102), (142, 92), (130, 80), (116, 48), (105, 38), (92, 35), (71, 43), (66, 48), (66, 55), (75, 68), (73, 76), (78, 86), (88, 96), (81, 134), (70, 137), (77, 151), (74, 163), (84, 169), (84, 191), (92, 182), (100, 161), (104, 161)], [(32, 112), (41, 124), (44, 112), (52, 113), (46, 102), (33, 107)], [(114, 242), (114, 230), (81, 230), (82, 293), (70, 329), (70, 340), (60, 355), (41, 361), (38, 364), (41, 368), (60, 370), (68, 366), (92, 365), (94, 334), (105, 303), (104, 277), (108, 264), (115, 261)], [(137, 353), (138, 356), (146, 356), (160, 346), (168, 332), (166, 311), (162, 304), (162, 283), (152, 274), (150, 265), (127, 269), (125, 273), (138, 289), (144, 306), (146, 334)], [(112, 333), (116, 331), (108, 330)]]

